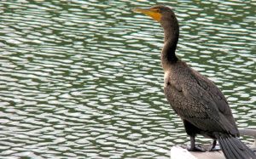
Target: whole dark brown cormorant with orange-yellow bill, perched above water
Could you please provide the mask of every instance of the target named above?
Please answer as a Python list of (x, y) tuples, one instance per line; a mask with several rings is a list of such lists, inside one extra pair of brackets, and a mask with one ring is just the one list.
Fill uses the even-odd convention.
[(165, 72), (164, 92), (166, 99), (183, 121), (190, 136), (191, 148), (196, 134), (218, 140), (228, 159), (255, 159), (252, 150), (241, 143), (230, 105), (220, 89), (207, 77), (193, 70), (175, 54), (179, 37), (177, 18), (164, 6), (135, 9), (160, 22), (165, 32), (165, 44), (161, 52), (161, 64)]

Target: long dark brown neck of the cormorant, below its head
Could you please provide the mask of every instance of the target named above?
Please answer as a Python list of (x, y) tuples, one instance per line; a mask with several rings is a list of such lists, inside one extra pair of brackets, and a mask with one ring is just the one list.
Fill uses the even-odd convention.
[(162, 66), (165, 67), (176, 63), (178, 60), (175, 50), (179, 36), (179, 26), (176, 18), (172, 20), (172, 23), (170, 20), (170, 23), (161, 24), (161, 26), (165, 32), (165, 44), (161, 54)]

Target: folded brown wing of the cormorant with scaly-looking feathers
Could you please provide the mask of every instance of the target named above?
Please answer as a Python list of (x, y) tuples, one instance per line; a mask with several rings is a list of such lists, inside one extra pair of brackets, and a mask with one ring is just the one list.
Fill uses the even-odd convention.
[(207, 77), (186, 65), (167, 78), (166, 98), (179, 116), (203, 130), (237, 133), (224, 94)]

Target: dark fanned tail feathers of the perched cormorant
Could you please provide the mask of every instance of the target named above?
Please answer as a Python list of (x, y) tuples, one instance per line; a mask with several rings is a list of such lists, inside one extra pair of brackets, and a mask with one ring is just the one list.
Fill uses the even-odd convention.
[(236, 137), (219, 136), (218, 143), (227, 159), (256, 159), (253, 150), (250, 150)]

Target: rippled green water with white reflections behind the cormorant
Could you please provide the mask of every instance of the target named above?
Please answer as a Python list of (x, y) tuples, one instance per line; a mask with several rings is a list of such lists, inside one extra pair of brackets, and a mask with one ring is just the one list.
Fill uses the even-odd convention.
[(168, 158), (187, 143), (163, 94), (163, 31), (132, 12), (154, 4), (177, 14), (178, 56), (255, 129), (255, 2), (1, 1), (0, 157)]

